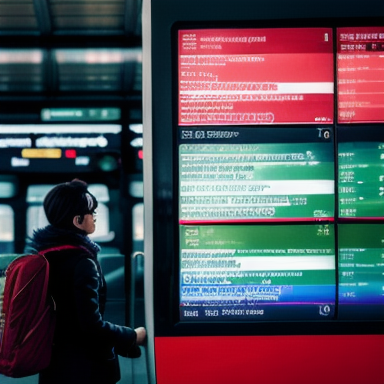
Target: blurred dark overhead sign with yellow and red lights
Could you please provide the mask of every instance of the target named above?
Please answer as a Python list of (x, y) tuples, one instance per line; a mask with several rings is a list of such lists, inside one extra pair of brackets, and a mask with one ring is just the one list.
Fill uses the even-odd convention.
[(111, 171), (121, 152), (119, 124), (0, 125), (0, 171)]

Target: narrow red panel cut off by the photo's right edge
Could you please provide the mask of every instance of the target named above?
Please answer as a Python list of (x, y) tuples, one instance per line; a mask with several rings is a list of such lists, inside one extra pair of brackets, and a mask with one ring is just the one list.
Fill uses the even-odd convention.
[(338, 122), (384, 122), (384, 27), (337, 30)]

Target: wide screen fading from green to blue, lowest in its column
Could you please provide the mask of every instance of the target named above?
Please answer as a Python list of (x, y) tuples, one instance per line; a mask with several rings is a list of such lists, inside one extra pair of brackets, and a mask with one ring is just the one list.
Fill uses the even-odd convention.
[(331, 320), (333, 225), (180, 226), (181, 321)]

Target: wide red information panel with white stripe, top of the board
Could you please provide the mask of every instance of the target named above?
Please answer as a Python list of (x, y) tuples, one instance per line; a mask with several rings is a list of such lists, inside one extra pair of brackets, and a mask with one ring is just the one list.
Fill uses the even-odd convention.
[(179, 31), (179, 125), (330, 124), (331, 28)]

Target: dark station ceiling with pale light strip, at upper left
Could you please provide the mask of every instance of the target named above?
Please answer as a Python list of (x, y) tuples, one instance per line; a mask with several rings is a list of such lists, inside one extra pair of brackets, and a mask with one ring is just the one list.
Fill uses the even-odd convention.
[(142, 0), (0, 0), (0, 99), (141, 97)]

